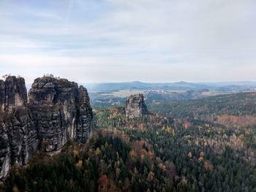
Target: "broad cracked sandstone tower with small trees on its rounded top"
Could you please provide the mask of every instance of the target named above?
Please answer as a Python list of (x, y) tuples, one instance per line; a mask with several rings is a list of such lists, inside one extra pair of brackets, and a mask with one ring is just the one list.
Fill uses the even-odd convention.
[(86, 142), (91, 135), (92, 110), (86, 88), (53, 77), (34, 80), (29, 91), (29, 108), (46, 142), (46, 150), (59, 150), (69, 140)]

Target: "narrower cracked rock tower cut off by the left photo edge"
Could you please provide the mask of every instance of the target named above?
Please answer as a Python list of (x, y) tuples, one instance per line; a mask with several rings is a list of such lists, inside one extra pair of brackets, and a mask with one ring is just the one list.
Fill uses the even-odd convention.
[(0, 82), (0, 179), (11, 164), (26, 164), (37, 150), (37, 130), (26, 107), (27, 91), (22, 77)]

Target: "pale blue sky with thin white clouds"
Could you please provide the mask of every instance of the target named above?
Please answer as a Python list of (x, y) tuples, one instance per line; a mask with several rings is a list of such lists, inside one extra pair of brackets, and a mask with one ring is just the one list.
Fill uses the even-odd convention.
[(256, 81), (255, 0), (0, 0), (0, 75)]

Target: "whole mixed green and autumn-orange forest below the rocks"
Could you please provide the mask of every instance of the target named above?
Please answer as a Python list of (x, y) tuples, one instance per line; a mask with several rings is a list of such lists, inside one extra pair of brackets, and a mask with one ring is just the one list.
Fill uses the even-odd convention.
[(159, 113), (132, 120), (125, 118), (124, 107), (94, 110), (96, 128), (86, 145), (69, 142), (53, 156), (35, 153), (28, 166), (15, 166), (0, 188), (256, 191), (255, 99), (250, 96), (171, 101), (152, 110)]

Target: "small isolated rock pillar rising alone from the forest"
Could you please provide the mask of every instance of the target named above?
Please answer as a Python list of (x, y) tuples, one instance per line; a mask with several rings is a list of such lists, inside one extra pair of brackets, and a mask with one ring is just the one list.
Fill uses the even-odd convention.
[(125, 106), (125, 112), (128, 119), (142, 118), (148, 114), (143, 94), (129, 96)]

